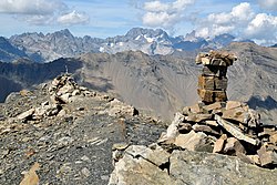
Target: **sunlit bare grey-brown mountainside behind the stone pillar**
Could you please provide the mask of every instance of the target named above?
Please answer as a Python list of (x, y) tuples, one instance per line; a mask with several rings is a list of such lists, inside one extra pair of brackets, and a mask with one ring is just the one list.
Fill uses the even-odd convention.
[[(227, 73), (229, 100), (248, 102), (250, 107), (265, 112), (263, 121), (274, 123), (276, 49), (234, 43), (226, 50), (238, 56)], [(194, 59), (188, 54), (147, 56), (140, 52), (85, 54), (81, 56), (85, 61), (81, 79), (91, 88), (119, 94), (136, 107), (172, 117), (177, 109), (198, 100), (195, 90), (201, 68), (194, 64)]]

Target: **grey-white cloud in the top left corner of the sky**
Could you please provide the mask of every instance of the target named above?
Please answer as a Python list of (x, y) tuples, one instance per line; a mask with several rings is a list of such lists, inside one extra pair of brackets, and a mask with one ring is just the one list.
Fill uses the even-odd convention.
[(84, 24), (90, 18), (84, 12), (72, 10), (61, 0), (1, 0), (0, 13), (34, 25)]

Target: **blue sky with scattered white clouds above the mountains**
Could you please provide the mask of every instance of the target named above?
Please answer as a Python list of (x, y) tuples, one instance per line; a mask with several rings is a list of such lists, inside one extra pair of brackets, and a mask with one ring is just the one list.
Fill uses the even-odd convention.
[(277, 43), (277, 0), (1, 0), (0, 35), (54, 32), (98, 38), (131, 28), (162, 28), (170, 34), (232, 33)]

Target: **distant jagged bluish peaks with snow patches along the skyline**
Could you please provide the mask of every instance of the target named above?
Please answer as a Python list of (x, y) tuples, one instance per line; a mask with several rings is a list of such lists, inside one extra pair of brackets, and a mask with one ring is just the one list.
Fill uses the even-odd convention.
[[(85, 35), (74, 37), (68, 29), (53, 33), (22, 33), (0, 38), (0, 60), (11, 62), (28, 58), (35, 62), (49, 62), (59, 58), (75, 56), (82, 53), (116, 53), (121, 51), (142, 51), (146, 54), (172, 54), (176, 51), (220, 49), (237, 39), (230, 34), (220, 34), (204, 39), (192, 33), (170, 37), (161, 29), (133, 28), (125, 35), (99, 39)], [(253, 41), (246, 41), (253, 42)]]

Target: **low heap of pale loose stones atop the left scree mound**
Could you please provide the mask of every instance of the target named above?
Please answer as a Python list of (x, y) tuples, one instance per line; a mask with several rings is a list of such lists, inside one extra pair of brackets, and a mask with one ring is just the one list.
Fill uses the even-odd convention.
[[(99, 114), (109, 114), (110, 116), (133, 116), (138, 114), (138, 111), (135, 107), (127, 105), (117, 99), (90, 91), (85, 86), (80, 86), (72, 78), (72, 74), (61, 74), (47, 84), (47, 86), (49, 88), (47, 92), (49, 100), (41, 103), (38, 107), (32, 107), (19, 114), (16, 120), (28, 122), (40, 121), (50, 116), (64, 116), (66, 115), (66, 112), (63, 106), (83, 97), (98, 97), (110, 102), (110, 107), (99, 112)], [(28, 94), (28, 91), (21, 91), (20, 93)]]

